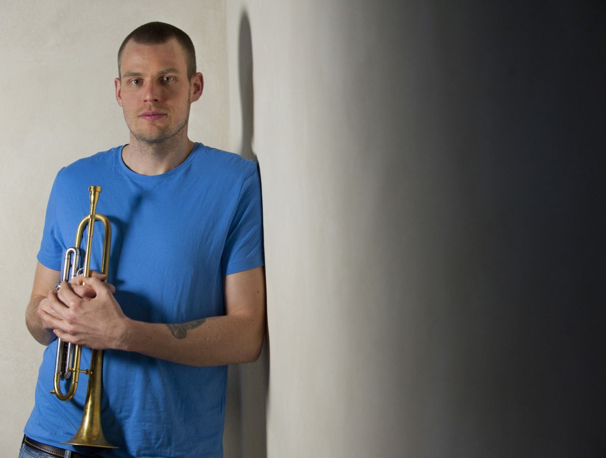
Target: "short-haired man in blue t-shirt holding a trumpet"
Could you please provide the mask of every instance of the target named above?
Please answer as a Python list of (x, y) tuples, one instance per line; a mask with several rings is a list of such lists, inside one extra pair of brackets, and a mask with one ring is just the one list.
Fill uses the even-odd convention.
[[(47, 348), (22, 456), (222, 456), (226, 365), (255, 361), (264, 338), (261, 193), (255, 163), (188, 139), (203, 88), (195, 65), (190, 38), (172, 25), (129, 34), (115, 90), (130, 142), (55, 179), (26, 312)], [(112, 223), (108, 283), (95, 273), (56, 290), (90, 185), (101, 186), (97, 211)], [(90, 348), (105, 350), (102, 427), (118, 449), (61, 443), (78, 429), (85, 389), (67, 402), (50, 394), (56, 337), (86, 347), (82, 368)]]

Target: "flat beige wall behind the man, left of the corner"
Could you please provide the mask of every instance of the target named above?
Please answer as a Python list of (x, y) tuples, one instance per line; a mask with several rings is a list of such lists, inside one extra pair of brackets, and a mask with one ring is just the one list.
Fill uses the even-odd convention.
[(11, 285), (0, 301), (0, 372), (7, 375), (0, 379), (2, 456), (16, 456), (33, 406), (42, 347), (25, 329), (24, 310), (55, 174), (128, 142), (113, 89), (116, 53), (130, 31), (149, 21), (190, 34), (205, 76), (205, 92), (191, 109), (190, 138), (226, 148), (224, 8), (218, 1), (2, 2), (0, 275)]

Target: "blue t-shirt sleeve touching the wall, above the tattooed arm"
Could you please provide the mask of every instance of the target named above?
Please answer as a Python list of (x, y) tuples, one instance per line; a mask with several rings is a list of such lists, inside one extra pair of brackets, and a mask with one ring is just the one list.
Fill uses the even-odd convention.
[(245, 178), (225, 240), (223, 275), (264, 265), (263, 212), (259, 168)]

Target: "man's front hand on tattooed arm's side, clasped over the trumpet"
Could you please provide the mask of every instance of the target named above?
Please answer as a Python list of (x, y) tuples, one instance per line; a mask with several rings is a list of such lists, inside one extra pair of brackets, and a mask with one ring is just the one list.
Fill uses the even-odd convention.
[(128, 318), (113, 296), (116, 289), (103, 283), (105, 275), (79, 275), (59, 290), (52, 289), (38, 306), (42, 326), (65, 342), (104, 350), (118, 348)]

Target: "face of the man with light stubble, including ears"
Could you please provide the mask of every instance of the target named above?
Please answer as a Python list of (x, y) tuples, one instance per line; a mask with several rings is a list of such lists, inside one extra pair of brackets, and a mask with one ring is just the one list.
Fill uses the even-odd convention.
[(185, 53), (175, 38), (162, 44), (129, 41), (122, 51), (116, 100), (137, 140), (158, 144), (187, 136), (191, 102), (202, 93), (202, 75), (187, 77)]

